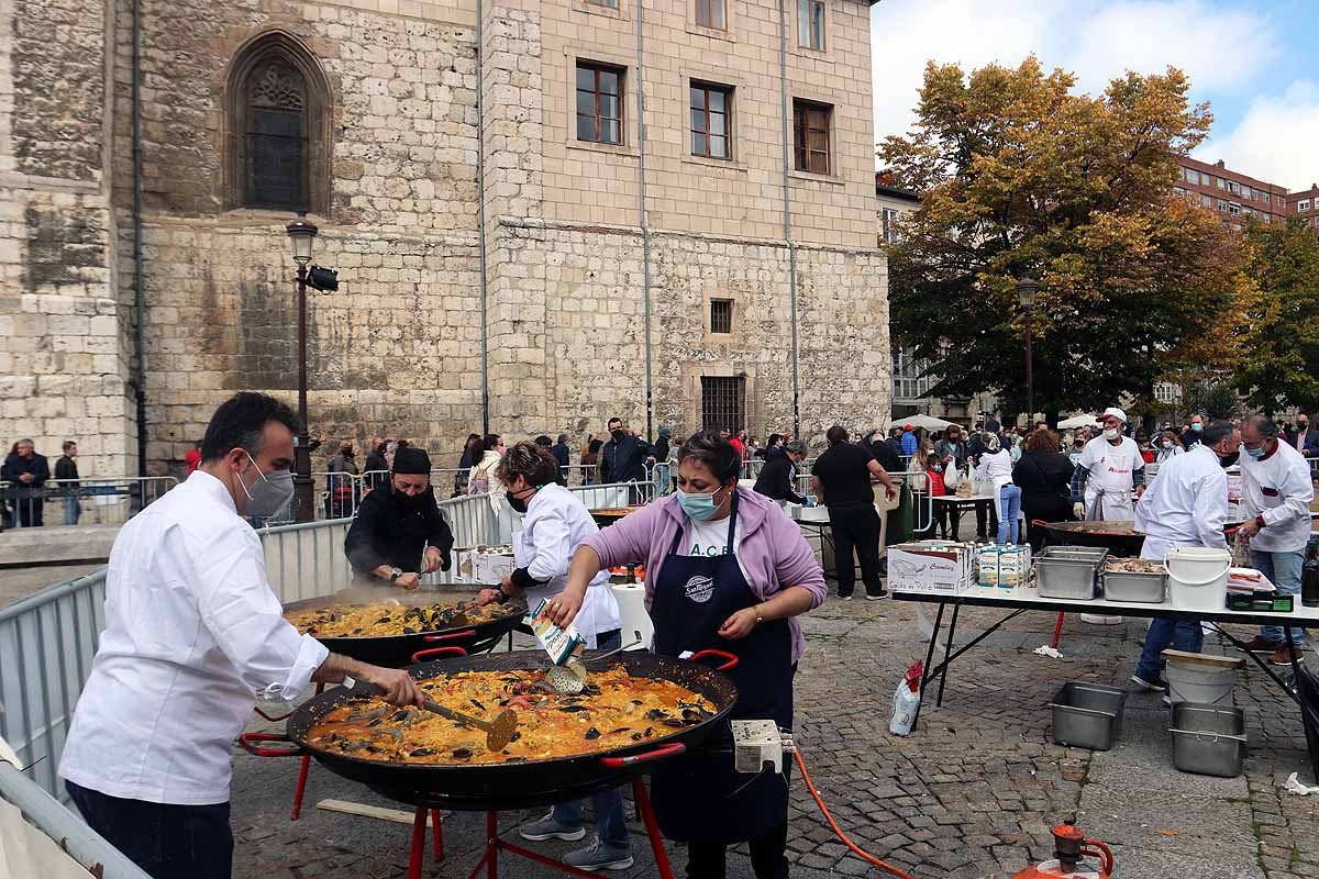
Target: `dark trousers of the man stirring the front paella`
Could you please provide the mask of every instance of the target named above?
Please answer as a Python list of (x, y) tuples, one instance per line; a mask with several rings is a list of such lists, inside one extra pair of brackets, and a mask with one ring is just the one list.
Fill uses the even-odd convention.
[(65, 781), (87, 826), (152, 879), (230, 879), (230, 804), (169, 805), (124, 800)]

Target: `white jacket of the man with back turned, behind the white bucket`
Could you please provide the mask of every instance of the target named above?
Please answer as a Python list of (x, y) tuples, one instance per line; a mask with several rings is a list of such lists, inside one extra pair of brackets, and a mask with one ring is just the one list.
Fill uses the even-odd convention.
[(1162, 559), (1175, 547), (1227, 550), (1228, 474), (1207, 445), (1159, 465), (1158, 478), (1136, 505), (1136, 530), (1145, 532), (1141, 556)]

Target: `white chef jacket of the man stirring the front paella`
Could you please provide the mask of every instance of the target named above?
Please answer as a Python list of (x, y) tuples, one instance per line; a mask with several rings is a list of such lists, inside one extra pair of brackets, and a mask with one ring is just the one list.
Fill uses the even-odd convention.
[(284, 619), (260, 539), (197, 470), (115, 539), (59, 774), (129, 800), (226, 803), (255, 695), (297, 698), (328, 652)]

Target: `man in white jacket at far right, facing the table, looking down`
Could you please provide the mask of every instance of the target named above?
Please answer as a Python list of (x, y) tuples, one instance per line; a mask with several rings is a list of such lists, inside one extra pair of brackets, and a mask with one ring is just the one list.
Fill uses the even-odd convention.
[[(1301, 568), (1310, 542), (1310, 502), (1315, 497), (1310, 463), (1282, 441), (1278, 426), (1264, 415), (1250, 415), (1241, 423), (1239, 463), (1241, 499), (1250, 517), (1241, 526), (1241, 536), (1250, 542), (1250, 564), (1278, 592), (1299, 597)], [(1291, 637), (1299, 646), (1304, 631), (1293, 629)], [(1261, 627), (1246, 650), (1269, 654), (1274, 666), (1291, 664), (1282, 626)]]

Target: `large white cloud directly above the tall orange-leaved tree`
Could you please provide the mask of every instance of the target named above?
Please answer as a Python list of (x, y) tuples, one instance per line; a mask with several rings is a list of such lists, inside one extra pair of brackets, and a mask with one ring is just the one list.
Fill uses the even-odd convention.
[[(871, 8), (874, 134), (910, 129), (925, 65), (1016, 66), (1030, 53), (1076, 72), (1096, 92), (1125, 70), (1182, 69), (1200, 100), (1241, 91), (1277, 55), (1277, 36), (1253, 11), (1207, 0), (884, 0)], [(1303, 140), (1297, 138), (1297, 149)], [(1314, 144), (1315, 141), (1310, 141)]]

